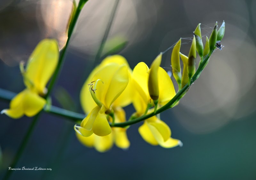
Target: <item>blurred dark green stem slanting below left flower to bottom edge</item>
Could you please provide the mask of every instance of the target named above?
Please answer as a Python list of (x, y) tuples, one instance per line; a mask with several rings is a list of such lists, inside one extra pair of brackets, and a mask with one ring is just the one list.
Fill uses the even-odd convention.
[[(23, 140), (22, 140), (22, 142), (20, 144), (20, 147), (19, 147), (19, 149), (18, 149), (18, 151), (17, 151), (17, 153), (16, 153), (16, 155), (15, 155), (13, 161), (12, 161), (12, 164), (10, 165), (10, 167), (12, 167), (12, 168), (16, 167), (17, 162), (19, 161), (19, 159), (20, 159), (24, 149), (26, 148), (26, 145), (28, 144), (28, 140), (29, 140), (31, 134), (34, 131), (34, 128), (36, 127), (36, 124), (37, 124), (37, 122), (39, 120), (39, 117), (40, 117), (40, 113), (38, 113), (35, 116), (35, 118), (33, 119), (32, 123), (30, 124), (30, 126), (28, 128), (28, 131), (27, 131), (25, 137), (23, 138)], [(3, 179), (4, 180), (9, 179), (10, 176), (12, 175), (12, 172), (13, 172), (13, 170), (8, 170), (6, 172), (6, 174), (5, 174)]]

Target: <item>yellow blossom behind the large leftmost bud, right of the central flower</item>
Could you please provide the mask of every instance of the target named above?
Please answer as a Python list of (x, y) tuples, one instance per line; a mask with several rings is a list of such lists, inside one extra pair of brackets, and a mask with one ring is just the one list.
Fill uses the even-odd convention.
[[(148, 73), (149, 68), (144, 62), (137, 64), (132, 72), (133, 84), (136, 90), (133, 96), (133, 105), (139, 116), (145, 113), (148, 104), (150, 104)], [(158, 68), (158, 87), (158, 107), (161, 107), (169, 102), (176, 94), (171, 78), (161, 67)], [(145, 141), (152, 145), (160, 145), (164, 148), (182, 145), (180, 140), (171, 138), (169, 126), (160, 119), (157, 119), (156, 116), (146, 119), (144, 124), (140, 126), (139, 133)]]

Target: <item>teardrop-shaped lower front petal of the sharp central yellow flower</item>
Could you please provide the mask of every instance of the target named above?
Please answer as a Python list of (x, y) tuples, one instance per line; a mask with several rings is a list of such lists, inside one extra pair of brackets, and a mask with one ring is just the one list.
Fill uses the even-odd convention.
[(93, 133), (98, 136), (106, 136), (111, 133), (104, 110), (105, 108), (102, 106), (92, 126)]

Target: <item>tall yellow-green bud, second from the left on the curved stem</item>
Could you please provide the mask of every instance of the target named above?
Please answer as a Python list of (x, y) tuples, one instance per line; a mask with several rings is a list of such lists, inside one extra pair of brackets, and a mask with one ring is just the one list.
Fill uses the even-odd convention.
[(171, 57), (172, 74), (179, 85), (179, 90), (181, 89), (180, 45), (181, 38), (173, 47)]

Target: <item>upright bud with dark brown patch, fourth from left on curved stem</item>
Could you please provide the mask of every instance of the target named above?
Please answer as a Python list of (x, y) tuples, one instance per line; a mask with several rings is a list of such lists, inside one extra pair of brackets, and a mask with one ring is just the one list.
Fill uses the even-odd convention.
[(188, 54), (188, 82), (190, 83), (192, 76), (196, 72), (196, 38), (194, 36), (189, 54)]

